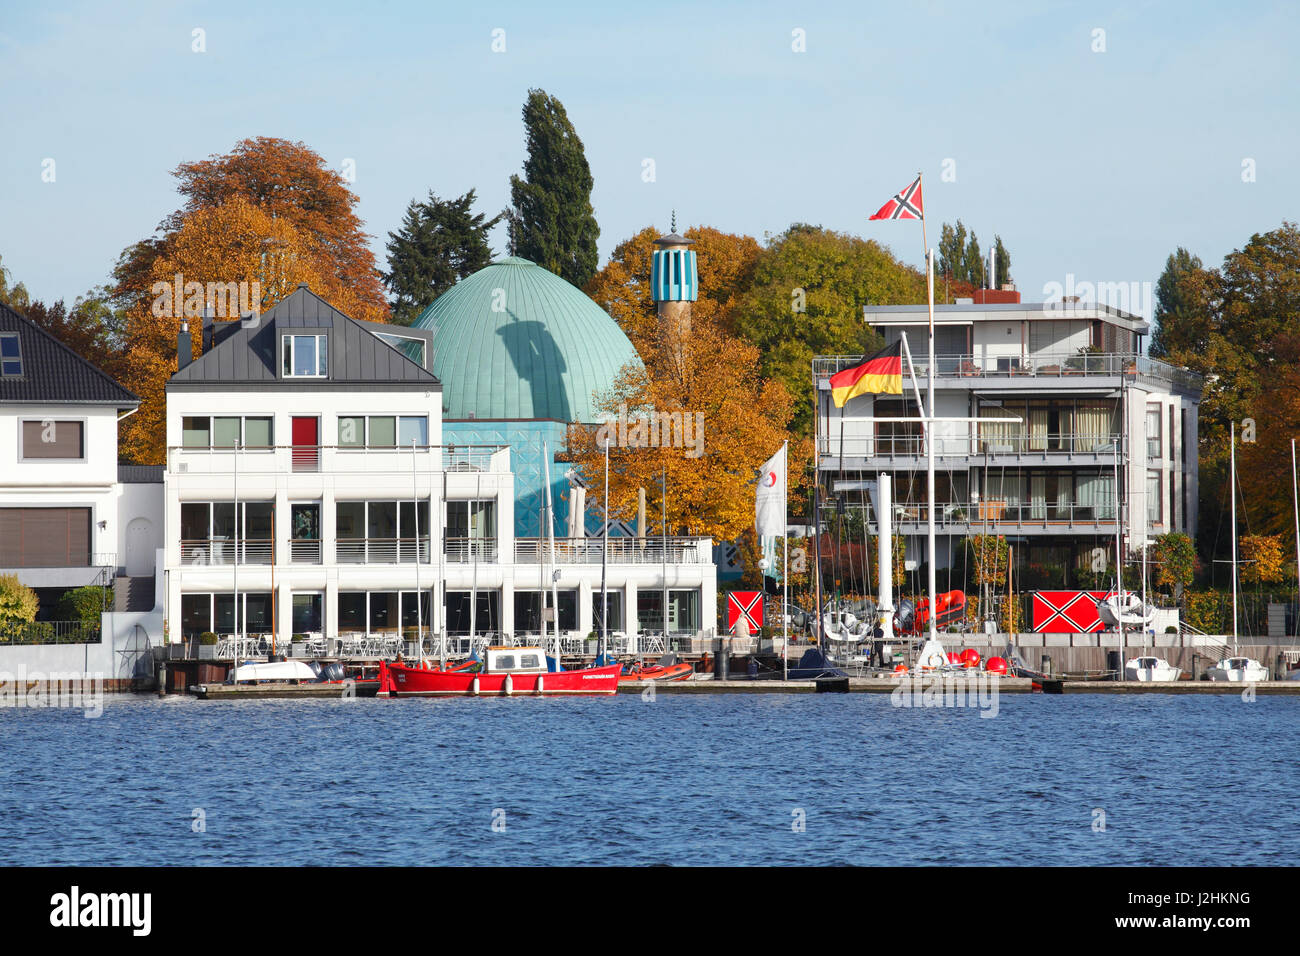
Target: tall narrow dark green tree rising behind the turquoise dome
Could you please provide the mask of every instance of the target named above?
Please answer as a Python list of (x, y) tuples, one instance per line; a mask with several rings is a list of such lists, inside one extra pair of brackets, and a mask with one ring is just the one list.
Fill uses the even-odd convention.
[(592, 169), (564, 105), (545, 90), (524, 103), (528, 159), (510, 177), (511, 254), (584, 287), (597, 268), (601, 228), (592, 208)]

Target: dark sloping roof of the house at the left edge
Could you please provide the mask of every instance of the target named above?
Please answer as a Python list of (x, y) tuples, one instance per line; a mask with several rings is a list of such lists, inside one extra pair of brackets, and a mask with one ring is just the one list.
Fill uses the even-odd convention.
[(135, 407), (140, 399), (23, 315), (0, 303), (0, 333), (17, 332), (22, 377), (0, 377), (0, 402)]

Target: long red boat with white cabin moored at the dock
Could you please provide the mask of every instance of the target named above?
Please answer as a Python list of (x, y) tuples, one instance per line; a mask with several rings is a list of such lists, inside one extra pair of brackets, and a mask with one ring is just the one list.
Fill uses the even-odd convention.
[(380, 663), (380, 697), (510, 697), (618, 693), (620, 665), (547, 671), (541, 648), (488, 648), (480, 671)]

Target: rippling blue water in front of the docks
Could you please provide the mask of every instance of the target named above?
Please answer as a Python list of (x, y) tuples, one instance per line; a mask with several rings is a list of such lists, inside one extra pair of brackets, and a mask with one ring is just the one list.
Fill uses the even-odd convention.
[(667, 693), (4, 709), (0, 864), (1300, 860), (1297, 698), (979, 713)]

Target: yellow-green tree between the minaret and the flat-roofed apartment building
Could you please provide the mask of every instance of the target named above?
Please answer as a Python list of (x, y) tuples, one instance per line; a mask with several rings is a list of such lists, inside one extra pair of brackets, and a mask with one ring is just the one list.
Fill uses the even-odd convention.
[(796, 397), (790, 432), (812, 433), (814, 355), (864, 355), (881, 347), (863, 306), (924, 302), (926, 281), (878, 242), (796, 224), (759, 256), (734, 328), (762, 354), (764, 378)]

